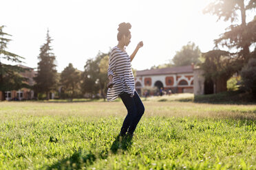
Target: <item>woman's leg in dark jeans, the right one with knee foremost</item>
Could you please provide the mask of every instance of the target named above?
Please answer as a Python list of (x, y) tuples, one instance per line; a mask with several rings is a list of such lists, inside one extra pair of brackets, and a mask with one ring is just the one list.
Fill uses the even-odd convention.
[(140, 97), (138, 96), (138, 93), (135, 91), (134, 92), (134, 102), (135, 102), (135, 106), (136, 106), (136, 116), (134, 117), (134, 119), (132, 120), (132, 123), (129, 127), (128, 132), (132, 135), (134, 134), (134, 131), (136, 130), (136, 126), (138, 125), (142, 115), (145, 112), (145, 108), (144, 105), (142, 104), (142, 101), (140, 100)]

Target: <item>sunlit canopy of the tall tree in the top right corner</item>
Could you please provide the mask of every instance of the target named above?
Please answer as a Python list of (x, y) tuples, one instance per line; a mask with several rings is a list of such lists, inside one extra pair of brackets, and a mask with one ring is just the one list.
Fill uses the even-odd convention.
[[(211, 79), (217, 77), (222, 79), (215, 81), (222, 87), (217, 91), (226, 90), (225, 84), (228, 78), (233, 73), (241, 71), (248, 60), (255, 57), (256, 19), (246, 23), (246, 12), (255, 12), (255, 3), (255, 0), (216, 0), (204, 9), (204, 13), (216, 15), (217, 21), (223, 19), (233, 23), (220, 35), (220, 38), (214, 40), (215, 49), (203, 55), (206, 62), (202, 64), (202, 68), (206, 75), (211, 75)], [(234, 24), (235, 22), (240, 24)], [(220, 50), (221, 47), (225, 47), (228, 51)], [(254, 51), (250, 51), (253, 47)], [(215, 69), (209, 69), (211, 67)], [(215, 77), (215, 75), (222, 76)]]

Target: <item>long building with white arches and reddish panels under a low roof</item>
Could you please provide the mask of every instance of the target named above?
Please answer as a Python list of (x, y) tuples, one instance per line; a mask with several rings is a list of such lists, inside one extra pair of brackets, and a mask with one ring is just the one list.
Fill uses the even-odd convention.
[(142, 88), (155, 86), (172, 93), (193, 93), (193, 80), (193, 65), (147, 69), (136, 71), (135, 87), (138, 93)]

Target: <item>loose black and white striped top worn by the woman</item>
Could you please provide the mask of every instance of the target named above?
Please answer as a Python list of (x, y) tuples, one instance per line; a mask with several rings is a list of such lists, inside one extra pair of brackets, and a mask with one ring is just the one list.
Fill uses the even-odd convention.
[(107, 76), (113, 75), (114, 86), (107, 90), (107, 101), (113, 101), (122, 92), (134, 95), (134, 74), (131, 70), (131, 58), (118, 47), (114, 47), (109, 56)]

